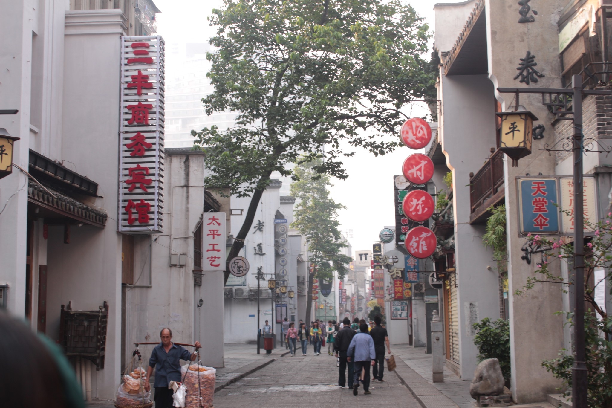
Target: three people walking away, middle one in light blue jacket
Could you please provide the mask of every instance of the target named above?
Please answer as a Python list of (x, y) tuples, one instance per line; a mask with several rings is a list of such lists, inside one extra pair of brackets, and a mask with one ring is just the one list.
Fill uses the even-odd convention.
[(364, 394), (370, 394), (370, 366), (375, 380), (383, 382), (384, 351), (391, 354), (387, 329), (381, 326), (381, 318), (375, 316), (374, 327), (368, 327), (365, 320), (355, 319), (353, 324), (345, 317), (343, 328), (334, 341), (334, 352), (340, 359), (340, 376), (338, 385), (346, 386), (346, 369), (348, 368), (348, 388), (357, 395), (359, 384), (364, 385)]

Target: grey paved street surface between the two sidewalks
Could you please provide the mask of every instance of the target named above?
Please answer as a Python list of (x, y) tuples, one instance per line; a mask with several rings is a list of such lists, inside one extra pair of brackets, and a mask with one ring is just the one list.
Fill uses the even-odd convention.
[[(228, 385), (215, 393), (215, 408), (234, 407), (420, 407), (408, 388), (401, 384), (395, 373), (384, 371), (384, 382), (371, 380), (370, 395), (338, 387), (336, 358), (322, 350), (321, 355), (312, 354), (297, 357), (287, 354), (275, 362), (255, 371), (244, 379)], [(275, 349), (274, 354), (285, 352), (284, 347)], [(370, 371), (371, 374), (371, 371)]]

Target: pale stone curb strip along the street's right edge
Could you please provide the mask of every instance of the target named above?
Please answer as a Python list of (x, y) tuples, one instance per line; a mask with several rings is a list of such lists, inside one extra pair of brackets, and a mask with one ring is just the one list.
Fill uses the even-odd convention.
[(458, 408), (449, 397), (427, 382), (419, 373), (408, 366), (401, 358), (395, 359), (394, 373), (405, 385), (422, 408)]

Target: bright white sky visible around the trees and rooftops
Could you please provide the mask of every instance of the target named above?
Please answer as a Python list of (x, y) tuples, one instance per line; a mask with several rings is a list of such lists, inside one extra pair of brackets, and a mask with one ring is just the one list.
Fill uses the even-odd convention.
[[(439, 2), (459, 1), (463, 0)], [(209, 26), (206, 17), (212, 9), (221, 7), (221, 1), (154, 0), (154, 2), (162, 10), (157, 15), (157, 33), (162, 35), (166, 44), (206, 42), (215, 34), (215, 29)], [(425, 17), (433, 29), (433, 6), (438, 1), (407, 2), (412, 4), (419, 15)], [(171, 61), (166, 63), (171, 65)], [(419, 106), (405, 111), (408, 116), (423, 116), (426, 113), (428, 111)], [(356, 150), (354, 157), (343, 160), (349, 177), (346, 180), (334, 180), (332, 196), (346, 206), (346, 209), (340, 213), (339, 220), (343, 230), (353, 230), (353, 238), (349, 239), (353, 251), (371, 250), (371, 244), (378, 241), (378, 232), (386, 225), (395, 224), (393, 176), (401, 174), (401, 164), (413, 152), (414, 150), (404, 147), (393, 154), (374, 157), (364, 149), (360, 149)]]

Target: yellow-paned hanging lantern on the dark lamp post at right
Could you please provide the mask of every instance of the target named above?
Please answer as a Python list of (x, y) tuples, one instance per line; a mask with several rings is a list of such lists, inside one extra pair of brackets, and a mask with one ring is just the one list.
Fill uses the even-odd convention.
[(512, 159), (512, 167), (518, 166), (518, 159), (531, 154), (533, 122), (537, 117), (529, 111), (498, 112), (501, 119), (498, 146)]

